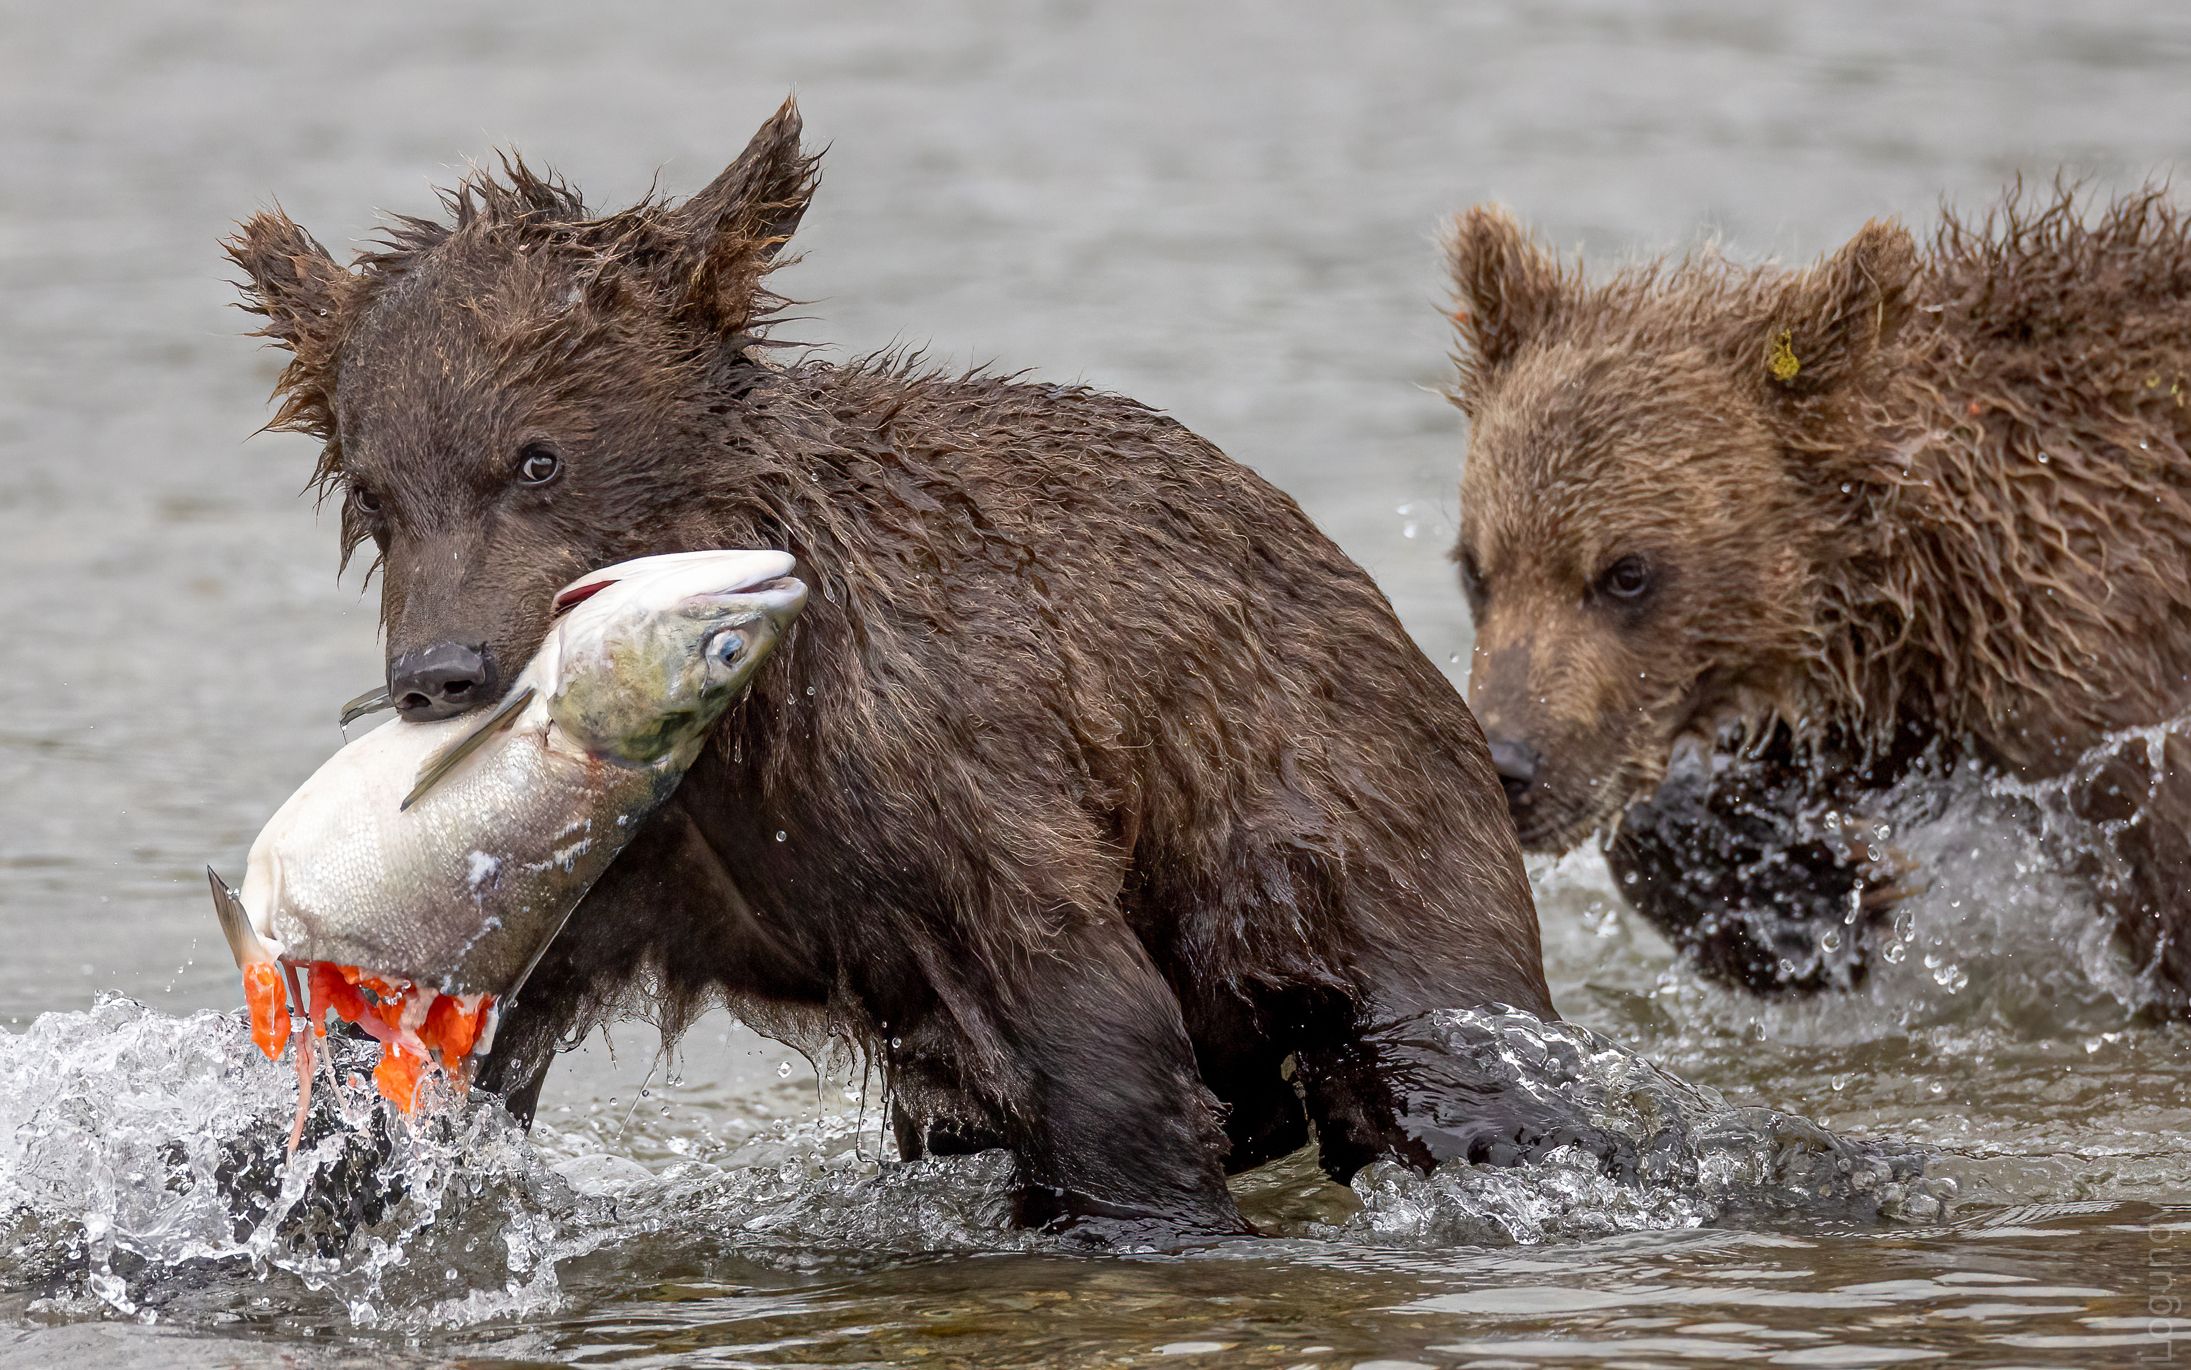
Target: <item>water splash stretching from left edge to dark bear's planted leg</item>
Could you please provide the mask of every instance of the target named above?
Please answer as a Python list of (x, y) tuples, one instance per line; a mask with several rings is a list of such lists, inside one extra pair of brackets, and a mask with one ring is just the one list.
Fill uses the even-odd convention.
[(364, 1081), (377, 1048), (329, 1046), (351, 1085), (316, 1092), (285, 1160), (296, 1076), (237, 1015), (105, 997), (0, 1032), (0, 1313), (416, 1331), (557, 1309), (559, 1263), (640, 1236), (760, 1263), (1025, 1241), (1001, 1153), (885, 1166), (826, 1116), (655, 1175), (557, 1157), (484, 1096), (403, 1120)]

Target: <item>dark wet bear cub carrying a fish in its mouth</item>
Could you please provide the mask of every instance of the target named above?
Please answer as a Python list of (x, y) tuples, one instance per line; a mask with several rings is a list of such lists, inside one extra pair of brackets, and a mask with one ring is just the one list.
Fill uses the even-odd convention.
[(1407, 1035), (1551, 1013), (1461, 699), (1293, 500), (1133, 401), (767, 362), (815, 171), (787, 103), (684, 204), (504, 164), (355, 270), (278, 213), (230, 243), (408, 712), (495, 697), (592, 566), (787, 548), (815, 587), (484, 1078), (530, 1109), (557, 1041), (727, 1000), (868, 1043), (907, 1153), (1008, 1144), (1025, 1219), (1133, 1232), (1242, 1230), (1225, 1171), (1308, 1118), (1334, 1175), (1503, 1155), (1529, 1124)]

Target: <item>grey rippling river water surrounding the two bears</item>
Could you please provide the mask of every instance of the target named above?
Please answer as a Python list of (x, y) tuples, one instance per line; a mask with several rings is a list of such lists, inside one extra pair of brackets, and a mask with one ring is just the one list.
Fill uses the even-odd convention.
[[(802, 338), (1179, 414), (1459, 677), (1439, 215), (1505, 199), (1597, 261), (1711, 235), (1808, 259), (2018, 171), (2165, 173), (2187, 61), (2191, 11), (2117, 0), (0, 0), (0, 1363), (2191, 1355), (2191, 1032), (2134, 1019), (2079, 892), (1983, 794), (1897, 833), (1930, 890), (1860, 995), (1709, 991), (1593, 855), (1534, 870), (1595, 1035), (1556, 1035), (1573, 1083), (1672, 1109), (1678, 1177), (1341, 1190), (1297, 1160), (1242, 1181), (1277, 1236), (1183, 1258), (1006, 1232), (984, 1157), (879, 1166), (857, 1070), (723, 1019), (675, 1061), (640, 1026), (589, 1043), (532, 1138), (489, 1109), (383, 1138), (401, 1199), (326, 1254), (313, 1192), (278, 1221), (243, 1197), (287, 1081), (208, 1013), (239, 995), (197, 875), (379, 673), (298, 495), (309, 447), (252, 436), (278, 362), (215, 241), (276, 195), (342, 248), (506, 142), (600, 204), (690, 191), (795, 88), (833, 145), (784, 276)], [(1930, 1177), (1770, 1111), (1900, 1138)], [(348, 1135), (307, 1168), (377, 1133)]]

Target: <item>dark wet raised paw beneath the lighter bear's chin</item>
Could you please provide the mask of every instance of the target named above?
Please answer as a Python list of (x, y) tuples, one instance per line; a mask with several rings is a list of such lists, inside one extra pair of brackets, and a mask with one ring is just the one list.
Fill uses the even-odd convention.
[(1851, 989), (1906, 894), (1889, 853), (1823, 820), (1799, 761), (1676, 765), (1606, 848), (1624, 899), (1698, 971), (1753, 993)]

